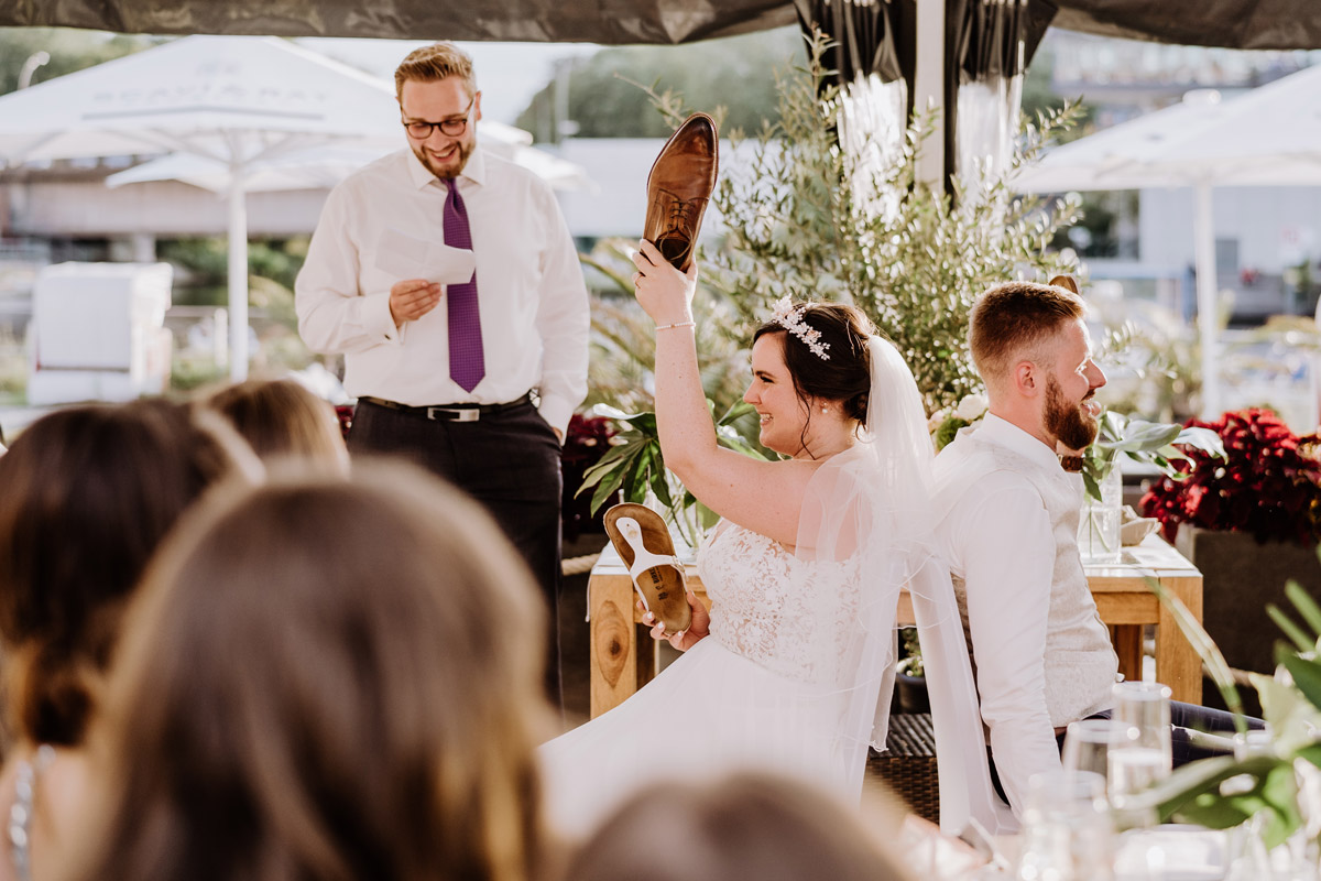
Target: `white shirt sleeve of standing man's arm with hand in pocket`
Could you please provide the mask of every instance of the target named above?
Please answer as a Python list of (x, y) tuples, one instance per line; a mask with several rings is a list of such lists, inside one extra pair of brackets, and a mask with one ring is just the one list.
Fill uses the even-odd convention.
[(539, 193), (547, 225), (547, 248), (542, 255), (542, 289), (536, 330), (542, 337), (542, 417), (568, 429), (573, 409), (587, 398), (588, 335), (592, 314), (568, 225), (550, 189)]

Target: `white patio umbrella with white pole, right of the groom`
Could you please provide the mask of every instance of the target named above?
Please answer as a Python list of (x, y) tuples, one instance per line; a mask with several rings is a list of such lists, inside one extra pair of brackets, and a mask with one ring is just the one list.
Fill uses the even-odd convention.
[(1189, 92), (1184, 103), (1065, 144), (1015, 181), (1022, 193), (1190, 186), (1202, 342), (1202, 413), (1217, 416), (1215, 186), (1321, 184), (1321, 66), (1222, 100)]

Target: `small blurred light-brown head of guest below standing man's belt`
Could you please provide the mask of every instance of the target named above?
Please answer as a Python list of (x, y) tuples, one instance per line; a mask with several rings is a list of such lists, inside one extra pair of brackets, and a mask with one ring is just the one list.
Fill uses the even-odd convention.
[(292, 379), (250, 379), (202, 403), (229, 419), (266, 462), (295, 457), (347, 472), (349, 450), (334, 407)]

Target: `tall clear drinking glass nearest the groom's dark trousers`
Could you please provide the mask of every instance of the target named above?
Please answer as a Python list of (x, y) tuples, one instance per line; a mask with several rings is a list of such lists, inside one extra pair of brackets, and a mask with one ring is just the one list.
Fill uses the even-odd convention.
[(1127, 738), (1110, 756), (1110, 798), (1116, 806), (1169, 777), (1169, 686), (1122, 682), (1112, 691), (1114, 719), (1128, 728)]

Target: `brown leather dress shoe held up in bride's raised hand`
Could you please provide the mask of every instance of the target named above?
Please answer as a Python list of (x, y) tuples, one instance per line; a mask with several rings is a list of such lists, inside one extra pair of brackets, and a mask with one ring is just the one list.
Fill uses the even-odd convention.
[(647, 176), (647, 219), (642, 238), (657, 246), (680, 272), (692, 265), (692, 248), (707, 201), (716, 189), (716, 123), (694, 114), (670, 136)]

